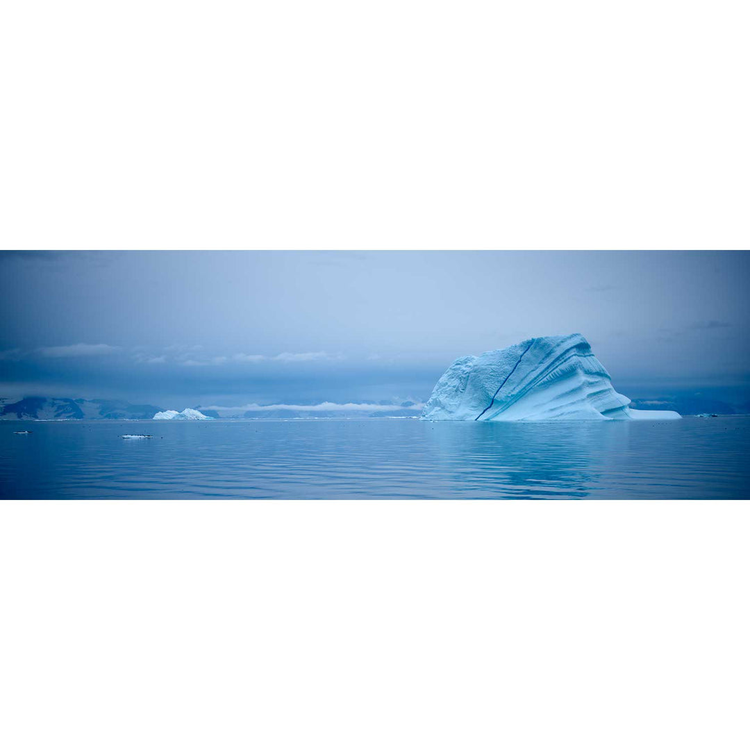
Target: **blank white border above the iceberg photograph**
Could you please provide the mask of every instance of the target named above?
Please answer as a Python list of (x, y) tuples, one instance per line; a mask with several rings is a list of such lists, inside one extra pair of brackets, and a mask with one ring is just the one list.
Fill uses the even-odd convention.
[(0, 246), (750, 248), (748, 4), (36, 0)]

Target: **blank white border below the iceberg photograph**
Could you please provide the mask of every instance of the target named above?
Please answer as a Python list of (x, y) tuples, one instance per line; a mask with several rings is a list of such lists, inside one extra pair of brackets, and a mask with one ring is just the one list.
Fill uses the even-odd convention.
[(744, 750), (750, 504), (9, 502), (3, 746)]

